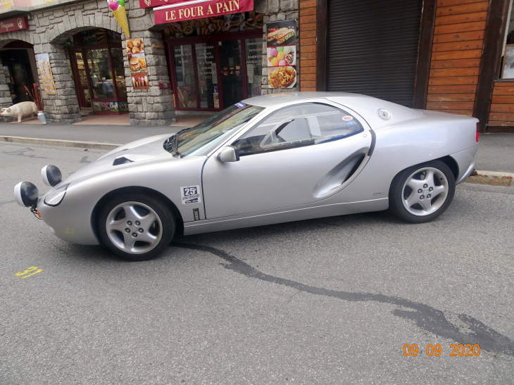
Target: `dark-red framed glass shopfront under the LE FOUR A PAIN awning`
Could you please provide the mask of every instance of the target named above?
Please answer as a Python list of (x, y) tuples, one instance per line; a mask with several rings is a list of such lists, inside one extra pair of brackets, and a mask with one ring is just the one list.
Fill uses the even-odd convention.
[(167, 43), (177, 111), (220, 111), (261, 95), (261, 31), (175, 38)]

